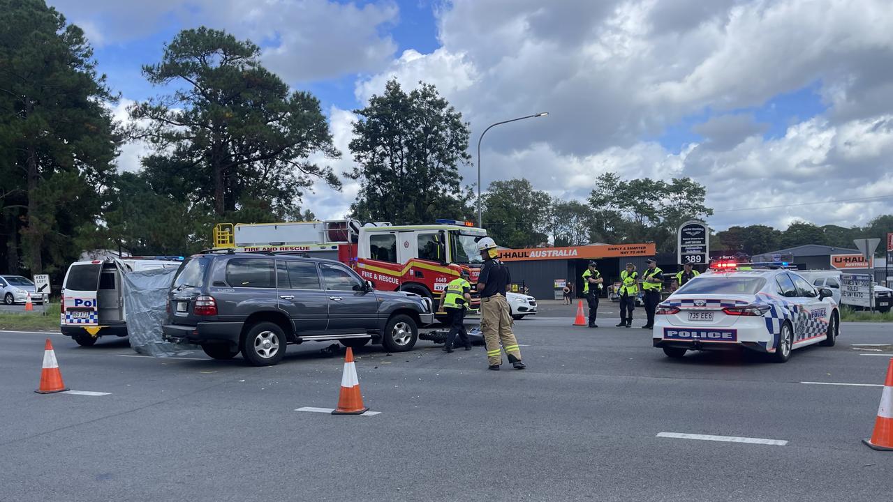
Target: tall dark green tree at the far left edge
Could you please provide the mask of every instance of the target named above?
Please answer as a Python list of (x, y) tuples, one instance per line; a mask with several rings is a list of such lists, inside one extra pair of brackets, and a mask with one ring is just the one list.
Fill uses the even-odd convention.
[(119, 138), (84, 33), (43, 0), (0, 0), (0, 234), (6, 267), (64, 271)]

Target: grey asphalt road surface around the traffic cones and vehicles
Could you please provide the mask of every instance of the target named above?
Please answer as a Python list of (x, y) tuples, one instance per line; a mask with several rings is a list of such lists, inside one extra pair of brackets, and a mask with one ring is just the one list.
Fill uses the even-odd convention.
[(861, 443), (880, 387), (803, 383), (883, 383), (893, 352), (853, 344), (893, 343), (888, 325), (844, 324), (781, 365), (672, 360), (645, 330), (573, 328), (567, 309), (516, 323), (524, 371), (488, 371), (480, 347), (357, 350), (378, 416), (295, 411), (336, 406), (343, 362), (322, 343), (254, 368), (51, 335), (71, 389), (110, 392), (94, 397), (34, 393), (46, 336), (0, 333), (0, 500), (890, 498), (893, 452)]

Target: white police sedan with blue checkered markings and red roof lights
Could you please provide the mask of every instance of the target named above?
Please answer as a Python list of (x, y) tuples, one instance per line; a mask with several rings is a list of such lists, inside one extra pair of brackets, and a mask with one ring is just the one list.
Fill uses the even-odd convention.
[(783, 363), (791, 350), (836, 342), (840, 314), (830, 290), (783, 267), (711, 267), (657, 307), (654, 346), (668, 357), (744, 348)]

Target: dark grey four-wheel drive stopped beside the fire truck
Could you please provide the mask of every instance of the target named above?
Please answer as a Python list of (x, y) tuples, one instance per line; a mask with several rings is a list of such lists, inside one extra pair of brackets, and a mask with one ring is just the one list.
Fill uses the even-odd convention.
[(434, 322), (430, 300), (373, 291), (328, 259), (198, 254), (183, 262), (168, 295), (164, 338), (196, 343), (217, 359), (239, 352), (255, 366), (278, 363), (288, 343), (368, 342), (410, 350), (418, 327)]

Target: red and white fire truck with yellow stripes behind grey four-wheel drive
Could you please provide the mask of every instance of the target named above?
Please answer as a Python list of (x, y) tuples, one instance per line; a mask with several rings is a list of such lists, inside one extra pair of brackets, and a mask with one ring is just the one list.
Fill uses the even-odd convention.
[[(355, 219), (288, 223), (220, 223), (213, 251), (307, 254), (353, 267), (376, 289), (414, 292), (437, 302), (455, 279), (456, 263), (476, 283), (483, 265), (477, 242), (487, 235), (472, 222), (438, 219), (433, 225), (361, 225)], [(472, 309), (480, 298), (472, 292)]]

